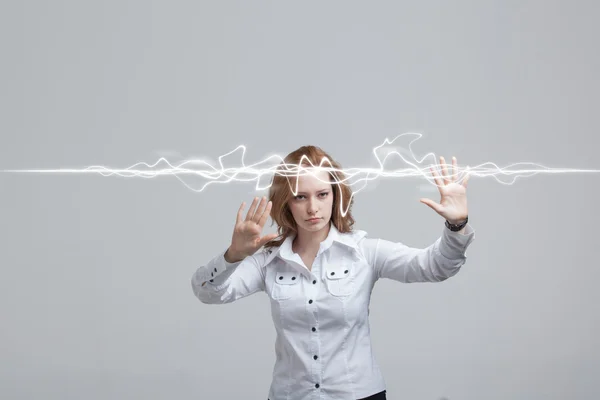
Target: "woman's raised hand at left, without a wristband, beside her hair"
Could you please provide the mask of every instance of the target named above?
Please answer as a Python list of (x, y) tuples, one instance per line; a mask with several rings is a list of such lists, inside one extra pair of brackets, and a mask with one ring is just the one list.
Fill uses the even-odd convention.
[(272, 202), (267, 203), (267, 198), (263, 196), (260, 203), (258, 197), (250, 205), (246, 214), (246, 219), (242, 219), (242, 213), (246, 202), (242, 202), (238, 210), (235, 228), (231, 237), (231, 246), (225, 252), (225, 260), (228, 262), (241, 261), (244, 258), (254, 254), (265, 243), (279, 236), (276, 233), (261, 237), (262, 229), (271, 214)]

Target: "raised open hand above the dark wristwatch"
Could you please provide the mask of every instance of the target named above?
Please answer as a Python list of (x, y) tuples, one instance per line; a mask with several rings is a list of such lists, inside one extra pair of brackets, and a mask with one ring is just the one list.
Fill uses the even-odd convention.
[(469, 175), (464, 178), (462, 183), (457, 182), (458, 169), (456, 166), (456, 157), (452, 157), (452, 174), (448, 174), (444, 157), (440, 157), (443, 179), (440, 178), (436, 170), (429, 167), (435, 183), (442, 196), (440, 203), (433, 200), (422, 198), (419, 201), (427, 204), (439, 215), (447, 219), (451, 224), (457, 224), (467, 218), (467, 182)]

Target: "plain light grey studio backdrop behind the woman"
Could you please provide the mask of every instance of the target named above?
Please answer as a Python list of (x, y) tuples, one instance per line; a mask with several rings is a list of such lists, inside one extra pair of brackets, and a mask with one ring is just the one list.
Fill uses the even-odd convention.
[[(599, 18), (594, 1), (3, 1), (0, 169), (306, 144), (376, 167), (404, 132), (461, 166), (599, 169)], [(599, 188), (471, 178), (460, 273), (373, 292), (391, 399), (598, 398)], [(431, 189), (371, 182), (355, 228), (430, 245)], [(265, 293), (208, 306), (190, 286), (266, 191), (67, 173), (0, 173), (0, 191), (0, 398), (267, 397)]]

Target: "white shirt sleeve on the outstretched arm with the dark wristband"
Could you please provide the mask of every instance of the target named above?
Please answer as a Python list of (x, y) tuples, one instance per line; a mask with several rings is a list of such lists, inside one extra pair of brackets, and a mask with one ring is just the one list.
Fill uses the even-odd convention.
[(414, 248), (384, 239), (364, 239), (363, 252), (375, 270), (375, 279), (404, 283), (440, 282), (454, 276), (466, 262), (466, 250), (475, 239), (467, 224), (464, 233), (444, 226), (442, 235), (426, 248)]

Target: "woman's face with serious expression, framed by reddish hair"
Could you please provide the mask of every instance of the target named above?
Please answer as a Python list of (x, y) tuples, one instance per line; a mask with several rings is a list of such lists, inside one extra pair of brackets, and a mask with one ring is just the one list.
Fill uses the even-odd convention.
[(333, 209), (333, 188), (327, 171), (298, 178), (298, 193), (292, 193), (288, 206), (298, 231), (317, 232), (328, 226)]

